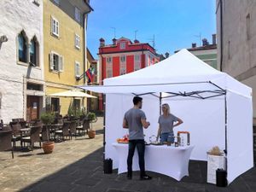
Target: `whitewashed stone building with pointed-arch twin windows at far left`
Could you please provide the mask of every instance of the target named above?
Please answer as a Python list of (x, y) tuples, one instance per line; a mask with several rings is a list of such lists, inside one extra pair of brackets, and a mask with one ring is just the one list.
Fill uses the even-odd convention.
[(44, 108), (43, 3), (0, 1), (0, 119), (37, 119)]

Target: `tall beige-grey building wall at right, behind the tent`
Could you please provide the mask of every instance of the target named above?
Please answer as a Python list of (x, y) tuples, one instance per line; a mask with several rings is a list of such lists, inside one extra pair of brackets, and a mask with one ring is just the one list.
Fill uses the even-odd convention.
[(218, 67), (253, 88), (256, 118), (256, 1), (216, 0)]

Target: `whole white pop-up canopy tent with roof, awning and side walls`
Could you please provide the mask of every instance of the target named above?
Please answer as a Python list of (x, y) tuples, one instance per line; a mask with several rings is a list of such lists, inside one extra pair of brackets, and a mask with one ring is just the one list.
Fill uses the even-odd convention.
[(143, 111), (151, 124), (144, 131), (145, 140), (156, 135), (160, 104), (166, 102), (184, 122), (175, 133), (190, 132), (195, 145), (191, 159), (207, 160), (214, 146), (225, 149), (229, 183), (253, 167), (252, 89), (187, 49), (137, 72), (105, 79), (102, 86), (80, 87), (106, 94), (105, 158), (112, 158), (114, 167), (118, 158), (112, 143), (127, 133), (122, 121), (135, 95), (143, 96)]

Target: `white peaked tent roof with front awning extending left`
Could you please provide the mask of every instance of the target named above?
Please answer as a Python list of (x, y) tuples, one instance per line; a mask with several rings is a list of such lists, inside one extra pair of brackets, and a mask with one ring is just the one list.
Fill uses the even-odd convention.
[[(217, 85), (217, 86), (216, 86)], [(203, 90), (233, 90), (250, 96), (251, 88), (226, 73), (210, 67), (187, 49), (182, 49), (164, 61), (133, 73), (104, 79), (102, 86), (79, 86), (102, 93), (190, 92)]]

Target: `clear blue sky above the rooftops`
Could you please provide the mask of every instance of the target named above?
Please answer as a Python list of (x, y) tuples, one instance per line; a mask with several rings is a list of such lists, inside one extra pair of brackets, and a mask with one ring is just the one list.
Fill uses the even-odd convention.
[(199, 44), (199, 36), (212, 42), (216, 33), (215, 0), (90, 0), (94, 9), (87, 26), (87, 46), (97, 59), (99, 39), (135, 38), (153, 45), (159, 54)]

